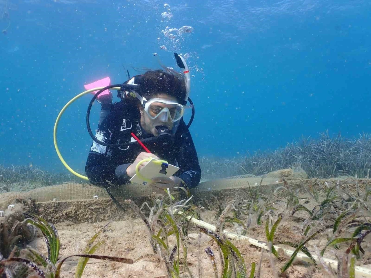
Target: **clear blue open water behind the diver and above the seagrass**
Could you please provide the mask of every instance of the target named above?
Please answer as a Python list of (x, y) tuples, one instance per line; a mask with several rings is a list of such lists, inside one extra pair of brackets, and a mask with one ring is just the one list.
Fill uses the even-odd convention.
[[(370, 1), (109, 2), (0, 0), (0, 28), (10, 22), (0, 36), (0, 164), (66, 171), (53, 146), (60, 109), (86, 83), (124, 82), (124, 67), (131, 75), (160, 63), (177, 69), (173, 52), (189, 55), (200, 156), (274, 150), (326, 129), (370, 132)], [(161, 32), (185, 25), (193, 32), (175, 40)], [(73, 103), (59, 125), (60, 150), (75, 169), (84, 168), (91, 145), (90, 97)]]

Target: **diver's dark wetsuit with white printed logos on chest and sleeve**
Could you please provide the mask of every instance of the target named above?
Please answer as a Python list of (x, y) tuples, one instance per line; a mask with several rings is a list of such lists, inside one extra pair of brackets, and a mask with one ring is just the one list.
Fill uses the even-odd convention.
[[(132, 141), (131, 132), (139, 139), (152, 137), (141, 127), (140, 117), (138, 106), (132, 102), (115, 103), (98, 126), (95, 136), (104, 143), (112, 144)], [(193, 188), (200, 182), (201, 169), (191, 134), (183, 119), (175, 134), (175, 142), (171, 146), (163, 147), (156, 143), (145, 145), (160, 159), (178, 166), (180, 169), (174, 176), (181, 178), (188, 188)], [(129, 184), (126, 169), (141, 152), (145, 150), (137, 143), (126, 147), (105, 147), (93, 142), (85, 166), (89, 181), (104, 187), (109, 184), (106, 180), (114, 186)]]

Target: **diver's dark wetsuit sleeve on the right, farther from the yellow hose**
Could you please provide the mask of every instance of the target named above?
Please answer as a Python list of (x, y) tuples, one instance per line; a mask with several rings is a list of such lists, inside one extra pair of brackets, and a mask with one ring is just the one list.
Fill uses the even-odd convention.
[(181, 135), (179, 152), (177, 155), (178, 167), (180, 168), (175, 176), (181, 178), (188, 188), (193, 188), (200, 183), (201, 168), (198, 162), (196, 148), (191, 133), (182, 121), (183, 134)]

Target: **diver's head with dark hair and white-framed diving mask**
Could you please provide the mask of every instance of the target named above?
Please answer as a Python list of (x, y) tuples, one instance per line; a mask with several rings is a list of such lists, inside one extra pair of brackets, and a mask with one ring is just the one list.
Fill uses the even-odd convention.
[(142, 128), (155, 136), (160, 127), (175, 133), (184, 114), (183, 104), (187, 95), (182, 75), (170, 69), (150, 70), (142, 76), (139, 88)]

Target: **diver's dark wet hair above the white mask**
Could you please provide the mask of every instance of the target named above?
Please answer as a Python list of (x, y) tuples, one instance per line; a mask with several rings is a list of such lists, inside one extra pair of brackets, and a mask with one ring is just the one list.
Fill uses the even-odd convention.
[(175, 97), (178, 102), (184, 102), (187, 94), (184, 78), (172, 69), (148, 70), (142, 75), (140, 91), (142, 96), (150, 99), (160, 93)]

